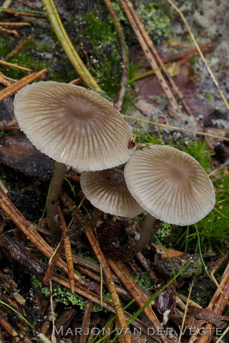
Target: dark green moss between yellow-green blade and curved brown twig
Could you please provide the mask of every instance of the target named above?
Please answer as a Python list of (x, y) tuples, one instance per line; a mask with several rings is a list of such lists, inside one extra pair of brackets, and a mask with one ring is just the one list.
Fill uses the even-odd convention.
[(116, 99), (121, 78), (121, 54), (115, 26), (110, 20), (100, 19), (95, 11), (80, 18), (83, 29), (75, 45), (81, 48), (79, 54), (93, 77), (100, 79), (102, 90)]

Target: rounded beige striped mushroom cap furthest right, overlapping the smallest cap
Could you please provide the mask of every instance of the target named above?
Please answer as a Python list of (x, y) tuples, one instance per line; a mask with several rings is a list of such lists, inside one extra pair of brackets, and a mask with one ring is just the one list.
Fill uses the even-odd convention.
[(189, 225), (214, 207), (215, 192), (200, 164), (175, 147), (154, 145), (134, 153), (125, 180), (137, 202), (152, 216)]

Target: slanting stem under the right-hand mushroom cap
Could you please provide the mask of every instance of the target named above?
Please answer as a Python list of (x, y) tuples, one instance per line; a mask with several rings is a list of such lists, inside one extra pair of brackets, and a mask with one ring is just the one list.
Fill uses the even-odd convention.
[(140, 252), (144, 246), (148, 243), (151, 232), (153, 231), (154, 234), (156, 234), (161, 226), (163, 221), (160, 221), (159, 219), (156, 219), (151, 214), (147, 213), (145, 216), (144, 221), (141, 224), (141, 232), (140, 232), (140, 238), (137, 241), (136, 245), (133, 248), (130, 248), (127, 252), (127, 254), (122, 259), (123, 262), (127, 262), (128, 260), (132, 259), (135, 255)]

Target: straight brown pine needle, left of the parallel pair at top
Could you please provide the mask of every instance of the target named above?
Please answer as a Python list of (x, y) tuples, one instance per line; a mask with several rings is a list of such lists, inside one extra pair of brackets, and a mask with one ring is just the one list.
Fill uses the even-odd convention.
[[(120, 2), (121, 2), (121, 5), (123, 7), (123, 10), (124, 10), (128, 20), (129, 20), (129, 22), (131, 24), (131, 27), (132, 27), (133, 31), (135, 32), (135, 35), (137, 36), (138, 42), (139, 42), (142, 50), (144, 51), (145, 56), (147, 57), (150, 65), (151, 65), (151, 68), (153, 70), (158, 69), (159, 66), (158, 66), (158, 64), (157, 64), (157, 62), (156, 62), (152, 52), (149, 50), (149, 48), (148, 48), (144, 38), (142, 37), (142, 34), (141, 34), (139, 28), (137, 27), (137, 23), (136, 23), (135, 19), (133, 18), (132, 13), (130, 12), (130, 9), (129, 9), (128, 5), (127, 5), (127, 1), (120, 0)], [(166, 94), (166, 96), (167, 96), (171, 106), (174, 108), (174, 110), (176, 110), (179, 113), (181, 113), (182, 111), (181, 111), (181, 109), (180, 109), (180, 107), (179, 107), (179, 105), (177, 103), (177, 100), (174, 97), (173, 93), (171, 92), (171, 90), (170, 90), (167, 82), (165, 81), (161, 71), (157, 70), (155, 72), (155, 74), (158, 77), (160, 85), (163, 88), (163, 91)]]

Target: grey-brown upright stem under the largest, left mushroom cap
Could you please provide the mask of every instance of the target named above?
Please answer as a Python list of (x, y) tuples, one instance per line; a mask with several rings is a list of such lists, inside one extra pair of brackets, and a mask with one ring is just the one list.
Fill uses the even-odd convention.
[(57, 209), (62, 182), (65, 176), (66, 165), (55, 161), (55, 168), (51, 179), (51, 188), (47, 201), (47, 220), (50, 230), (53, 233), (58, 231)]

